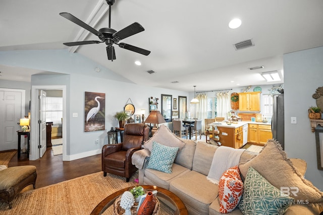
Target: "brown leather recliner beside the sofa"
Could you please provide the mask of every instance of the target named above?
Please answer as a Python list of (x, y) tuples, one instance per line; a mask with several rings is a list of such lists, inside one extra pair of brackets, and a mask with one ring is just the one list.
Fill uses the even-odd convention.
[(149, 138), (149, 126), (142, 123), (125, 125), (123, 142), (120, 144), (104, 145), (102, 148), (102, 171), (106, 173), (130, 177), (137, 171), (131, 162), (132, 154), (141, 149), (143, 141)]

